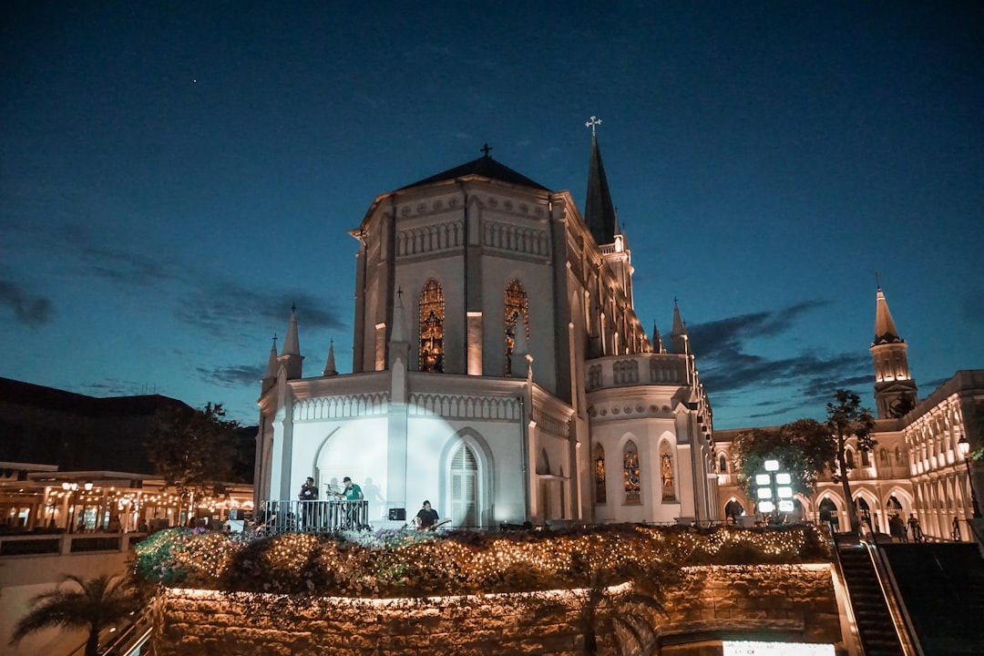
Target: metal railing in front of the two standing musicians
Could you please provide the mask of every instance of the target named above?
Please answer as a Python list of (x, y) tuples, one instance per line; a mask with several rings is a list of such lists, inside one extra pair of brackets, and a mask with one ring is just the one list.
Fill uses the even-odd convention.
[(257, 532), (332, 533), (371, 528), (369, 502), (344, 501), (264, 501), (257, 516)]

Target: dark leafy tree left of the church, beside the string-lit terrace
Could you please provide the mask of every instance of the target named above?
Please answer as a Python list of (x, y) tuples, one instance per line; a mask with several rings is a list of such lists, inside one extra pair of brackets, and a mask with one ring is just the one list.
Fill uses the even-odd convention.
[(167, 407), (154, 416), (148, 431), (148, 457), (166, 487), (194, 511), (195, 499), (226, 495), (239, 456), (239, 425), (225, 420), (221, 403), (204, 409)]

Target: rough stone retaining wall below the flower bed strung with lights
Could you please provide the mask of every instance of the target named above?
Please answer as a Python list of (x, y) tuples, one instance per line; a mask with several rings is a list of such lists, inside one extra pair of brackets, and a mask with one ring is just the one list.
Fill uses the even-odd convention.
[[(719, 643), (722, 636), (840, 641), (830, 567), (689, 567), (685, 574), (665, 600), (668, 615), (656, 618), (664, 654), (714, 653), (707, 651), (708, 640)], [(154, 653), (574, 656), (584, 653), (576, 599), (558, 592), (302, 602), (171, 589), (155, 611)], [(537, 617), (544, 601), (551, 612)], [(616, 653), (612, 635), (598, 637), (600, 654)]]

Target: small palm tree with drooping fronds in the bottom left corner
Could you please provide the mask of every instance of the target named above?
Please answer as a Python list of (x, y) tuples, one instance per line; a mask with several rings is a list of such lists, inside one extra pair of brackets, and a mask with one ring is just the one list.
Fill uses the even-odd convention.
[[(66, 588), (63, 583), (68, 581), (81, 589)], [(129, 583), (119, 576), (84, 579), (65, 574), (57, 587), (31, 599), (31, 610), (14, 627), (10, 643), (17, 644), (42, 628), (88, 628), (86, 656), (97, 656), (102, 629), (126, 618), (136, 606)]]

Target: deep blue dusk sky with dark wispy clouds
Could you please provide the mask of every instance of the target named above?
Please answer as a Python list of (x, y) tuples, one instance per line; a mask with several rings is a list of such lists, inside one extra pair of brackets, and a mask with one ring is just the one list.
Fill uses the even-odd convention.
[(15, 0), (0, 71), (6, 378), (255, 423), (291, 304), (351, 370), (375, 196), (487, 142), (583, 208), (592, 115), (715, 428), (872, 405), (876, 273), (921, 396), (984, 368), (980, 3)]

